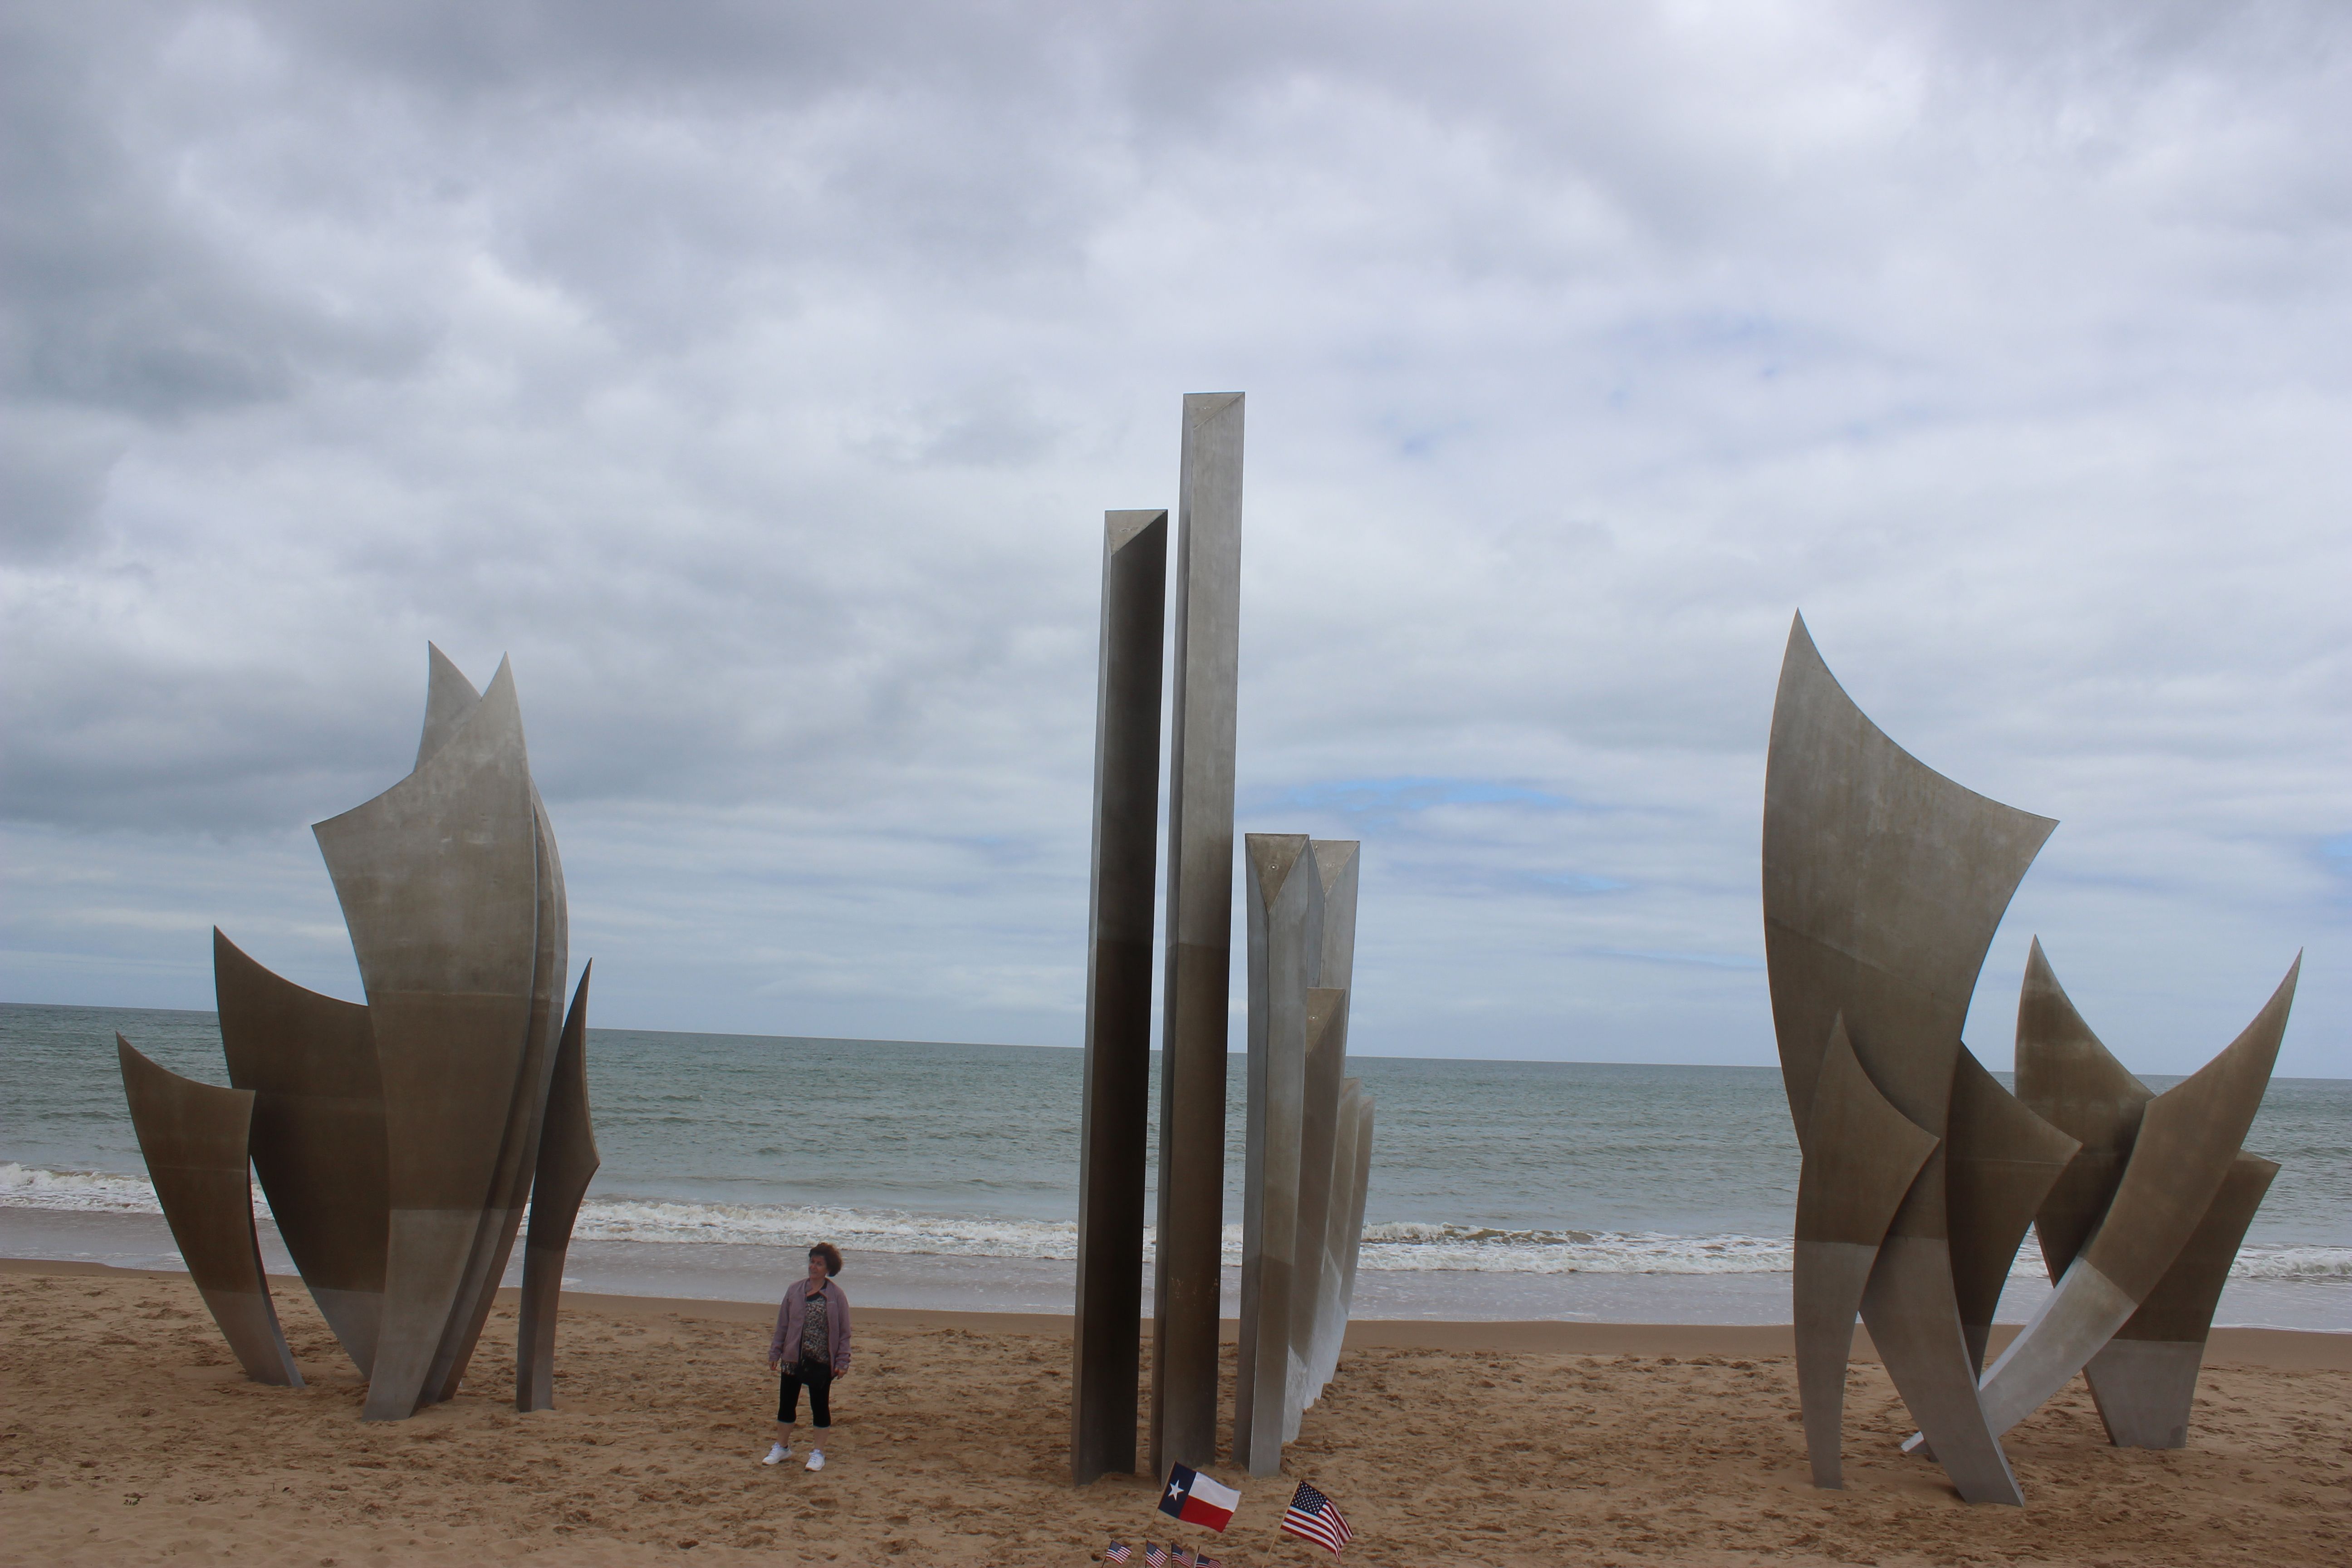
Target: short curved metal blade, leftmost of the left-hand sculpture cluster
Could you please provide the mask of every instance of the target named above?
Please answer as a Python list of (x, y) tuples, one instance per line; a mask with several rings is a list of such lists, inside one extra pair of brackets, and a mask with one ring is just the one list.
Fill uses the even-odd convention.
[(249, 1088), (219, 1088), (158, 1067), (115, 1034), (122, 1095), (132, 1107), (139, 1154), (212, 1321), (254, 1382), (301, 1387), (301, 1371), (278, 1328), (270, 1284), (254, 1237), (254, 1190), (247, 1147), (254, 1117)]

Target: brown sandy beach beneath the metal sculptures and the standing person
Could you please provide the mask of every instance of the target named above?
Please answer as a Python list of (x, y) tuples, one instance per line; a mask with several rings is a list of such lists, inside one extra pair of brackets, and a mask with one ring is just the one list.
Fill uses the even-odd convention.
[[(325, 1324), (278, 1302), (306, 1389), (247, 1382), (186, 1276), (0, 1265), (0, 1559), (1042, 1566), (1169, 1540), (1148, 1481), (1068, 1486), (1056, 1319), (866, 1312), (807, 1474), (755, 1462), (757, 1305), (567, 1298), (562, 1408), (517, 1415), (508, 1302), (456, 1401), (362, 1425)], [(1875, 1363), (1849, 1401), (1849, 1488), (1818, 1493), (1785, 1328), (1359, 1324), (1284, 1479), (1223, 1467), (1232, 1528), (1174, 1533), (1327, 1561), (1275, 1530), (1310, 1479), (1357, 1530), (1345, 1561), (1378, 1566), (2352, 1561), (2352, 1335), (2216, 1335), (2178, 1453), (2110, 1448), (2077, 1382), (2009, 1441), (2025, 1509), (1896, 1453)]]

